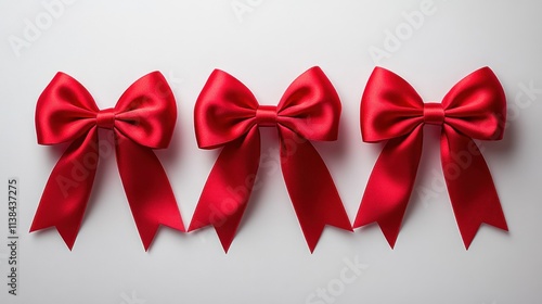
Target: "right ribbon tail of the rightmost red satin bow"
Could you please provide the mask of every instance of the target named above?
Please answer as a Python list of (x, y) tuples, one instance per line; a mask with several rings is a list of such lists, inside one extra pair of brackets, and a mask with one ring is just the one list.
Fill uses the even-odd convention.
[(508, 231), (491, 173), (473, 139), (444, 125), (440, 144), (448, 193), (465, 248), (482, 223)]

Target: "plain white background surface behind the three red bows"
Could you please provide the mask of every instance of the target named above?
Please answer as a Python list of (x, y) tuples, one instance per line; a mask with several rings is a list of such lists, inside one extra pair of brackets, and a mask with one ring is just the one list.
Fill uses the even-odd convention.
[[(420, 11), (422, 2), (75, 1), (47, 24), (51, 13), (40, 1), (0, 1), (0, 303), (541, 303), (542, 93), (529, 97), (522, 88), (542, 88), (542, 2), (434, 0), (431, 14), (409, 31), (402, 13)], [(236, 14), (238, 3), (249, 10)], [(28, 23), (41, 26), (34, 41), (24, 36)], [(404, 39), (375, 61), (370, 48), (386, 51), (386, 30), (398, 28)], [(28, 45), (17, 50), (13, 37)], [(505, 138), (485, 142), (483, 155), (509, 232), (482, 226), (464, 249), (440, 187), (438, 130), (429, 127), (415, 188), (433, 195), (413, 194), (395, 250), (376, 226), (353, 233), (326, 228), (310, 254), (271, 130), (263, 131), (262, 153), (276, 166), (260, 170), (263, 187), (253, 193), (228, 254), (212, 229), (160, 229), (144, 252), (114, 156), (100, 164), (72, 252), (55, 230), (27, 232), (62, 152), (38, 145), (34, 124), (36, 101), (57, 71), (81, 81), (102, 109), (142, 75), (164, 73), (179, 119), (170, 148), (157, 154), (188, 226), (218, 155), (197, 148), (192, 118), (216, 67), (240, 78), (262, 104), (276, 104), (310, 66), (323, 68), (344, 112), (339, 140), (315, 145), (353, 220), (382, 149), (363, 143), (359, 131), (360, 97), (377, 64), (403, 76), (426, 101), (439, 101), (478, 67), (495, 72), (509, 119)], [(17, 296), (4, 284), (10, 177), (21, 183)], [(343, 270), (345, 261), (363, 270)], [(318, 289), (328, 297), (318, 297)]]

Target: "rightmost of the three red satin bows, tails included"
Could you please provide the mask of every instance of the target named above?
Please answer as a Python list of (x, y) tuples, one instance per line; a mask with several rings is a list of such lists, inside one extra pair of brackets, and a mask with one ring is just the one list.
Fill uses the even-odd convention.
[(378, 223), (393, 246), (414, 186), (425, 124), (442, 127), (440, 156), (450, 201), (465, 248), (482, 223), (507, 230), (489, 168), (473, 139), (499, 140), (506, 118), (499, 79), (482, 67), (457, 83), (442, 103), (423, 103), (404, 79), (382, 67), (361, 101), (363, 140), (387, 140), (353, 227)]

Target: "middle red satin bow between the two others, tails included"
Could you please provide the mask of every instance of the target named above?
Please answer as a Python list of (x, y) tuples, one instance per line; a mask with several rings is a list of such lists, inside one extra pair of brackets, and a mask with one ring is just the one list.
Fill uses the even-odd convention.
[(311, 252), (325, 225), (351, 231), (330, 172), (309, 142), (336, 140), (339, 115), (338, 96), (319, 67), (294, 80), (278, 106), (259, 105), (240, 80), (214, 71), (196, 101), (195, 131), (199, 148), (224, 148), (205, 183), (189, 231), (215, 226), (228, 252), (259, 166), (258, 127), (279, 131), (282, 173)]

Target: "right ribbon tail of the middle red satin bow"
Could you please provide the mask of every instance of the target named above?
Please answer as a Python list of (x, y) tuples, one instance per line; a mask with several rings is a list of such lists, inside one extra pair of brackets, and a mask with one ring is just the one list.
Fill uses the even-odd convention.
[(325, 225), (352, 231), (330, 170), (314, 147), (279, 126), (284, 181), (311, 252)]

